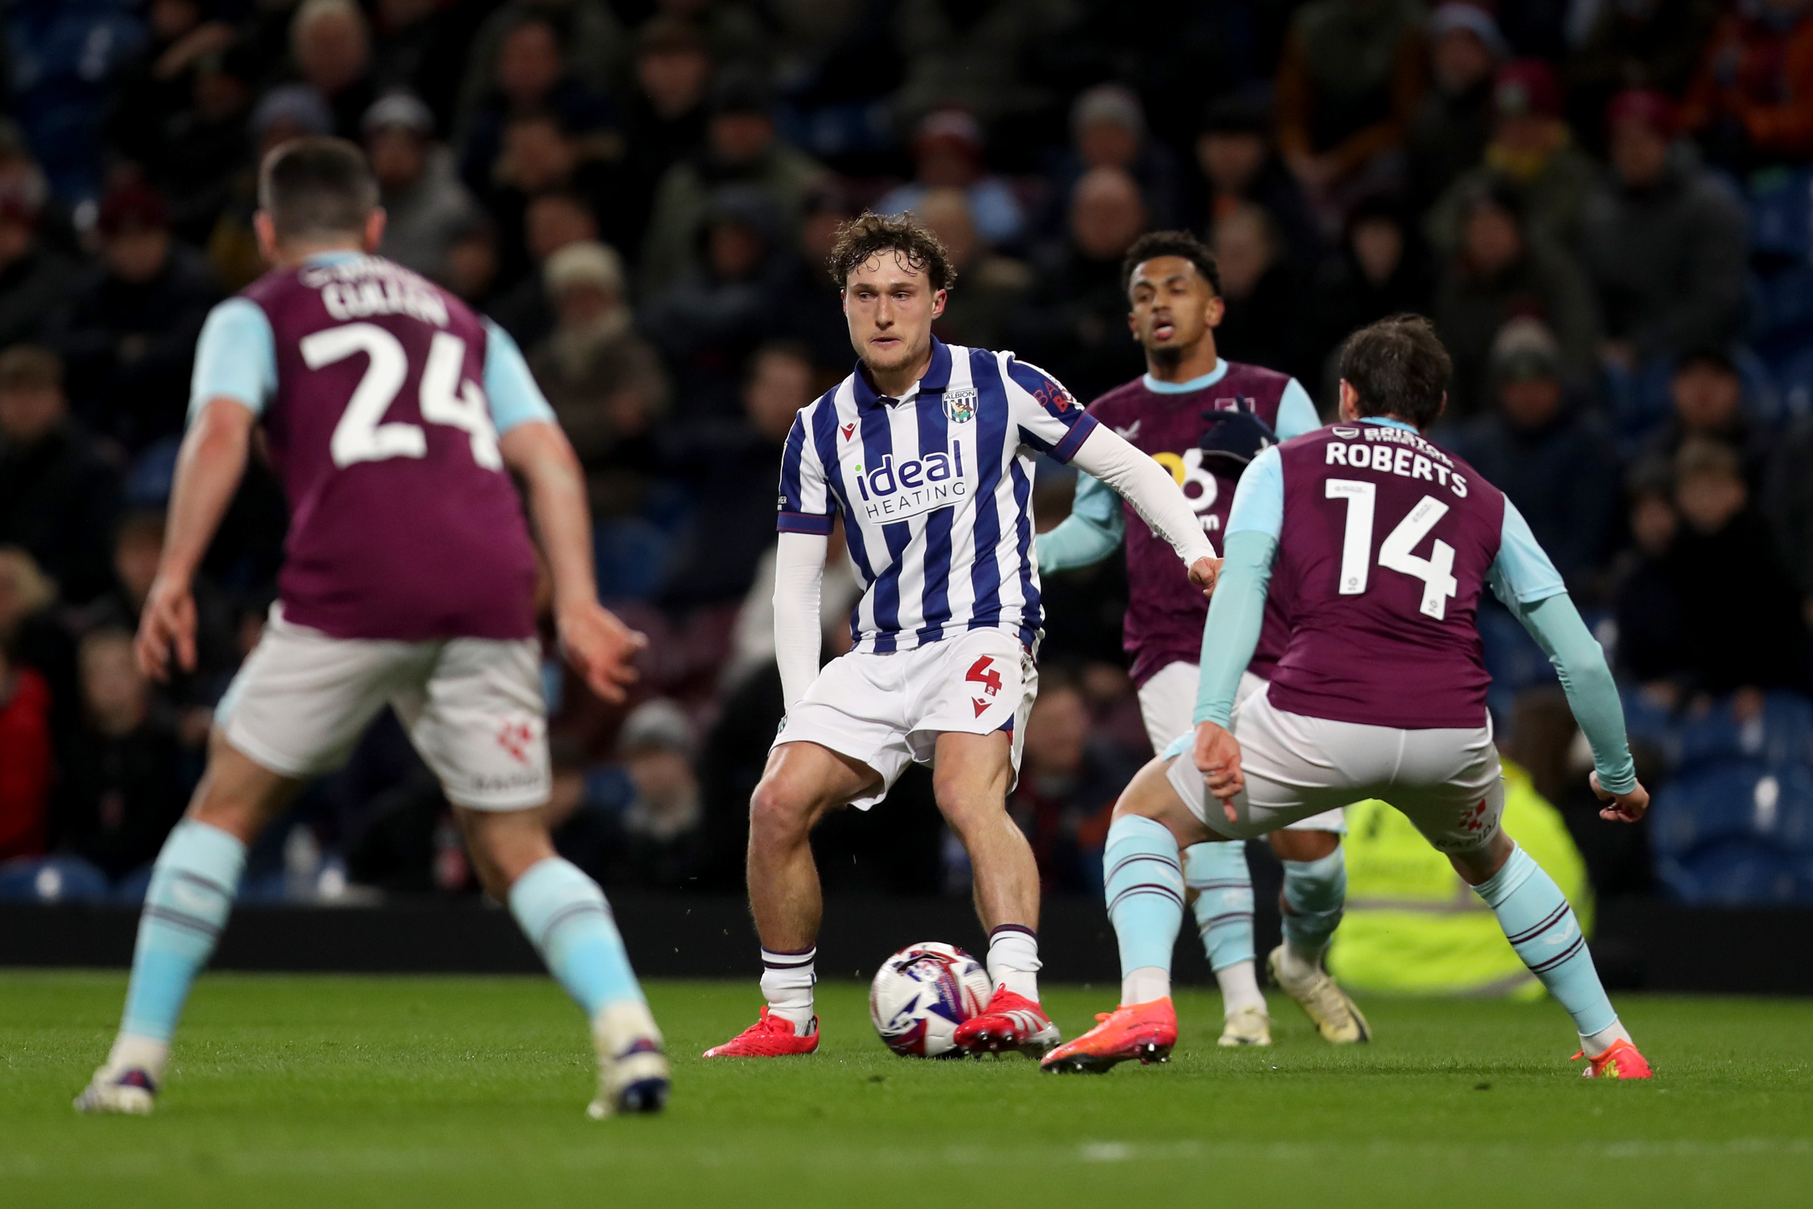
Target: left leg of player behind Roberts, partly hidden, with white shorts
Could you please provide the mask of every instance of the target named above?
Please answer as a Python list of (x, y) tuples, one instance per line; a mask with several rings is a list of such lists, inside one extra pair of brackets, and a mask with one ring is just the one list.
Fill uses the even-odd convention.
[[(1140, 685), (1139, 709), (1151, 750), (1162, 752), (1193, 730), (1197, 709), (1195, 663), (1169, 663)], [(1264, 687), (1253, 672), (1240, 676), (1240, 700)], [(1184, 886), (1197, 917), (1202, 950), (1222, 990), (1224, 1046), (1269, 1046), (1271, 1019), (1253, 964), (1253, 872), (1244, 843), (1202, 843), (1184, 852)]]

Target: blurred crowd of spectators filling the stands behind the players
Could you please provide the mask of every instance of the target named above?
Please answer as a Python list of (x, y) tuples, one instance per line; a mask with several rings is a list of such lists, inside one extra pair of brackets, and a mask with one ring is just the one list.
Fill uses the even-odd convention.
[[(0, 861), (53, 854), (38, 894), (141, 894), (270, 605), (285, 504), (254, 466), (207, 560), (198, 669), (134, 667), (194, 341), (263, 272), (256, 165), (299, 134), (364, 145), (383, 254), (511, 332), (584, 460), (600, 591), (651, 638), (629, 707), (546, 665), (557, 836), (607, 886), (740, 886), (781, 712), (780, 444), (848, 373), (821, 265), (863, 208), (950, 248), (943, 339), (1013, 348), (1084, 401), (1144, 368), (1119, 270), (1159, 227), (1215, 248), (1222, 353), (1325, 413), (1347, 332), (1432, 315), (1456, 363), (1438, 440), (1528, 517), (1634, 700), (1744, 718), (1809, 689), (1813, 0), (0, 13)], [(1071, 489), (1041, 468), (1041, 527)], [(839, 618), (841, 555), (825, 591)], [(1046, 584), (1013, 812), (1057, 892), (1099, 883), (1149, 754), (1124, 595), (1117, 558)], [(1503, 620), (1481, 618), (1499, 725), (1590, 819)], [(921, 776), (816, 843), (832, 888), (966, 894)], [(1650, 890), (1641, 834), (1586, 856), (1603, 892)], [(286, 897), (475, 892), (388, 718), (252, 872)]]

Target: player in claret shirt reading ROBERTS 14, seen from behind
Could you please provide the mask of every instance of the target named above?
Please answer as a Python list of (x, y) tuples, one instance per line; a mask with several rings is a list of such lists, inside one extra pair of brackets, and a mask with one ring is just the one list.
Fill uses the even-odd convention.
[[(1253, 459), (1235, 491), (1226, 567), (1202, 634), (1195, 734), (1139, 770), (1108, 828), (1108, 917), (1120, 1006), (1044, 1059), (1050, 1071), (1162, 1060), (1177, 1044), (1171, 950), (1184, 917), (1182, 846), (1251, 839), (1331, 807), (1401, 810), (1498, 915), (1574, 1019), (1586, 1075), (1648, 1078), (1556, 883), (1499, 827), (1490, 676), (1474, 613), (1490, 585), (1561, 674), (1594, 754), (1601, 816), (1635, 821), (1650, 796), (1624, 741), (1605, 653), (1505, 495), (1423, 430), (1452, 373), (1427, 319), (1398, 315), (1342, 348), (1342, 422)], [(1240, 701), (1267, 595), (1289, 602), (1271, 682)]]

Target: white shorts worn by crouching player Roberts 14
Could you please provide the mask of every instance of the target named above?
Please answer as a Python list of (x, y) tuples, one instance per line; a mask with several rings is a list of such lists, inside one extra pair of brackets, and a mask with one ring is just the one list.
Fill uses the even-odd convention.
[(1166, 772), (1191, 814), (1231, 839), (1383, 798), (1441, 852), (1474, 852), (1492, 841), (1505, 814), (1490, 720), (1438, 730), (1367, 727), (1287, 714), (1273, 707), (1269, 692), (1256, 692), (1235, 714), (1233, 736), (1246, 774), (1246, 788), (1233, 799), (1238, 821), (1227, 821), (1188, 750)]

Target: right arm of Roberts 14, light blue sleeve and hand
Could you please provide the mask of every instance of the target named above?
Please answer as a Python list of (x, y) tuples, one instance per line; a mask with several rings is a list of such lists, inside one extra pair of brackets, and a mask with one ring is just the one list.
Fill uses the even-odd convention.
[(1563, 587), (1561, 573), (1536, 544), (1530, 524), (1510, 500), (1505, 500), (1505, 529), (1498, 558), (1492, 560), (1490, 584), (1556, 665), (1568, 709), (1592, 749), (1594, 792), (1610, 803), (1599, 816), (1635, 823), (1648, 810), (1650, 794), (1637, 781), (1637, 765), (1630, 758), (1617, 682), (1605, 662), (1605, 649)]

